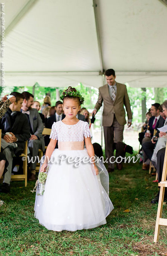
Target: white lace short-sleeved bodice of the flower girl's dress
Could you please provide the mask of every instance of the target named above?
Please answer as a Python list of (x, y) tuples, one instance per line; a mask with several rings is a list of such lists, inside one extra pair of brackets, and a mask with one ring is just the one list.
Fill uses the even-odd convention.
[(84, 137), (91, 137), (91, 132), (89, 124), (82, 120), (73, 125), (58, 121), (54, 122), (51, 127), (50, 139), (57, 139), (58, 141), (84, 141)]

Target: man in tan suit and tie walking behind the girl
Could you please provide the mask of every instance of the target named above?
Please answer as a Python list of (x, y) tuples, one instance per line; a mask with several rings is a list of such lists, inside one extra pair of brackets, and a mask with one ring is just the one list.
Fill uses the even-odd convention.
[[(114, 163), (109, 159), (114, 155), (113, 143), (123, 141), (123, 129), (126, 124), (125, 109), (128, 117), (128, 127), (132, 124), (132, 111), (125, 84), (119, 84), (115, 81), (116, 75), (113, 69), (105, 72), (107, 84), (99, 88), (99, 96), (92, 114), (96, 114), (102, 106), (103, 109), (103, 128), (105, 141), (105, 156), (108, 158), (108, 172), (114, 171)], [(111, 162), (114, 162), (111, 158)], [(117, 163), (117, 168), (122, 169), (122, 163)]]

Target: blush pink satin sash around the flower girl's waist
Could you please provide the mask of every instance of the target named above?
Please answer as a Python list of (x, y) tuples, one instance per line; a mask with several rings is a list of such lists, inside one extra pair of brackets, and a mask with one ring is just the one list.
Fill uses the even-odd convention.
[(84, 141), (58, 141), (59, 150), (84, 150)]

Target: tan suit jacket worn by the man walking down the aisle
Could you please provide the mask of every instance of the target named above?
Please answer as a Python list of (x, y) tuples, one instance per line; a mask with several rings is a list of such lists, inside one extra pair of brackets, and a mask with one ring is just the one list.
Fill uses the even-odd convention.
[(126, 85), (119, 83), (116, 83), (116, 85), (117, 93), (114, 102), (110, 97), (108, 91), (108, 84), (105, 84), (104, 86), (99, 88), (99, 96), (95, 108), (98, 111), (104, 101), (103, 126), (112, 125), (114, 114), (120, 125), (126, 124), (124, 105), (127, 111), (128, 119), (132, 119), (132, 111), (130, 109), (130, 101), (129, 96), (127, 94)]

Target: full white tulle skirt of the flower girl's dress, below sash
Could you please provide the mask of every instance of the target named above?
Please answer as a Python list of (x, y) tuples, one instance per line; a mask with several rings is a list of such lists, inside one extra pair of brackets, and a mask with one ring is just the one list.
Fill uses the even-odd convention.
[[(65, 156), (66, 160), (60, 163)], [(114, 209), (108, 197), (108, 172), (103, 163), (97, 164), (100, 174), (96, 175), (90, 162), (75, 166), (75, 162), (67, 160), (86, 156), (89, 158), (86, 149), (53, 151), (44, 195), (36, 195), (34, 207), (35, 218), (48, 230), (95, 228), (105, 224), (105, 218)]]

